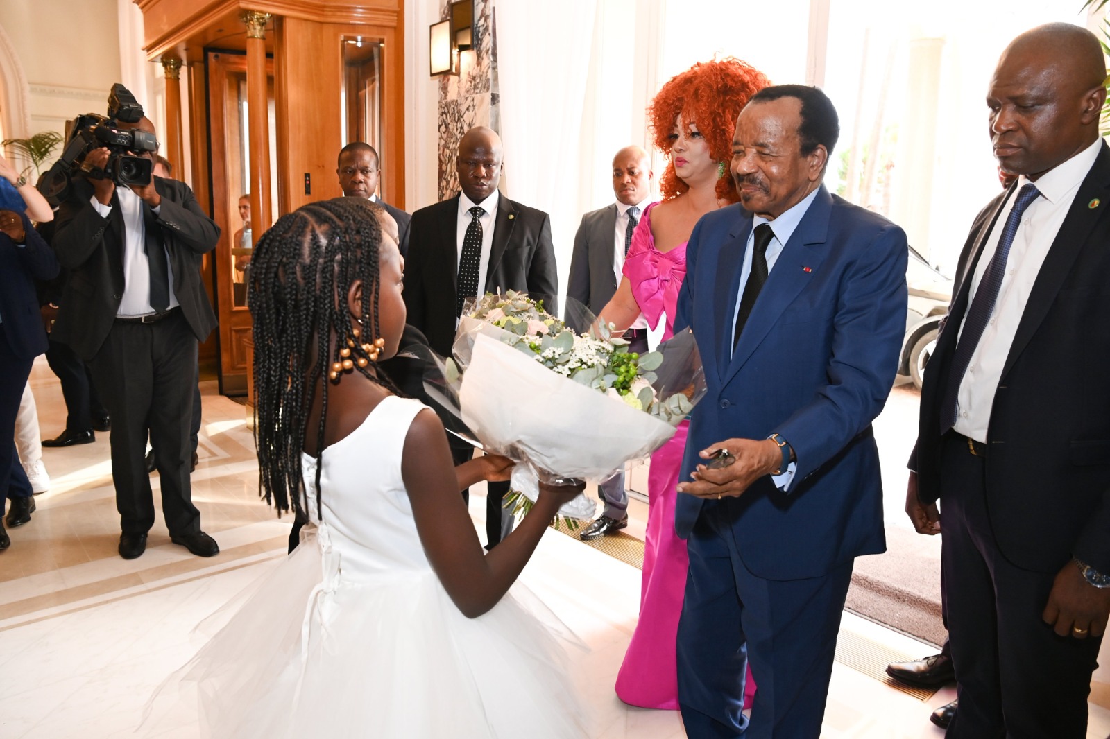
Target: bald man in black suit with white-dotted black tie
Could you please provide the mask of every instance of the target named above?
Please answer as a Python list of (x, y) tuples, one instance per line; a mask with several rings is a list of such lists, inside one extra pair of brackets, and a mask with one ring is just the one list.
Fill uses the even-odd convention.
[[(558, 313), (558, 276), (546, 213), (497, 192), (501, 139), (475, 128), (458, 142), (455, 171), (462, 193), (413, 213), (405, 260), (408, 323), (427, 336), (441, 356), (451, 356), (463, 300), (486, 292), (527, 291)], [(456, 445), (455, 464), (473, 449)], [(502, 515), (507, 483), (487, 484), (486, 534), (490, 545), (512, 528)], [(464, 494), (465, 495), (465, 494)]]

